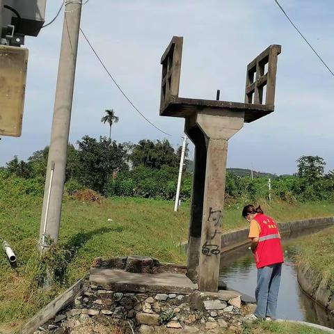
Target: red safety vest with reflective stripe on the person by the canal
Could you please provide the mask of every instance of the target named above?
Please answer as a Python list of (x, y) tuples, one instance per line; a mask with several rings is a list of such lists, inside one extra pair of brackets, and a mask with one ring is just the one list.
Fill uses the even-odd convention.
[(284, 262), (283, 248), (280, 244), (280, 234), (278, 227), (269, 216), (257, 214), (255, 221), (260, 225), (259, 244), (254, 252), (257, 269)]

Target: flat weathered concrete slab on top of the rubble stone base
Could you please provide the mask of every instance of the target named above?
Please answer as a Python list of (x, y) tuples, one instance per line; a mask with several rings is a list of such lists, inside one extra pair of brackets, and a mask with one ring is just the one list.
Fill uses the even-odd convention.
[(90, 268), (90, 283), (125, 292), (189, 294), (198, 289), (181, 273), (129, 273), (119, 269)]

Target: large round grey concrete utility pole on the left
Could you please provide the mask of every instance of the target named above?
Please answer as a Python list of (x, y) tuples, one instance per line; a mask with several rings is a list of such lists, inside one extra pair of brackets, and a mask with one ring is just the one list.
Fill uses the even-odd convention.
[[(0, 0), (1, 1), (1, 0)], [(82, 0), (66, 0), (59, 58), (54, 118), (52, 121), (47, 177), (40, 221), (40, 244), (42, 250), (48, 247), (50, 237), (58, 241), (61, 222), (61, 205), (65, 183), (67, 145), (74, 90), (75, 67), (81, 19)]]

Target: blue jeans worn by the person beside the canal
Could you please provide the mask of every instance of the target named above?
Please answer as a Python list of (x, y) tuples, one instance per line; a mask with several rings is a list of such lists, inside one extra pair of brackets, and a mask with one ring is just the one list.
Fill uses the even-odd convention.
[(281, 272), (281, 263), (257, 269), (257, 287), (255, 289), (257, 308), (254, 312), (256, 317), (275, 319)]

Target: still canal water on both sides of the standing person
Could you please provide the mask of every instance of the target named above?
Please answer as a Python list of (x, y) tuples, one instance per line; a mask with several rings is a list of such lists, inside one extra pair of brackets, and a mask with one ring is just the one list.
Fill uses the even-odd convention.
[[(295, 234), (287, 236), (283, 240), (285, 263), (282, 268), (276, 317), (278, 319), (308, 321), (334, 328), (334, 315), (306, 296), (301, 291), (296, 278), (296, 266), (292, 256), (294, 248), (301, 241), (301, 238), (308, 238), (310, 233), (314, 232), (317, 230), (309, 231), (308, 236)], [(227, 284), (228, 289), (234, 289), (254, 297), (256, 276), (257, 269), (253, 254), (248, 247), (222, 255), (220, 280)]]

